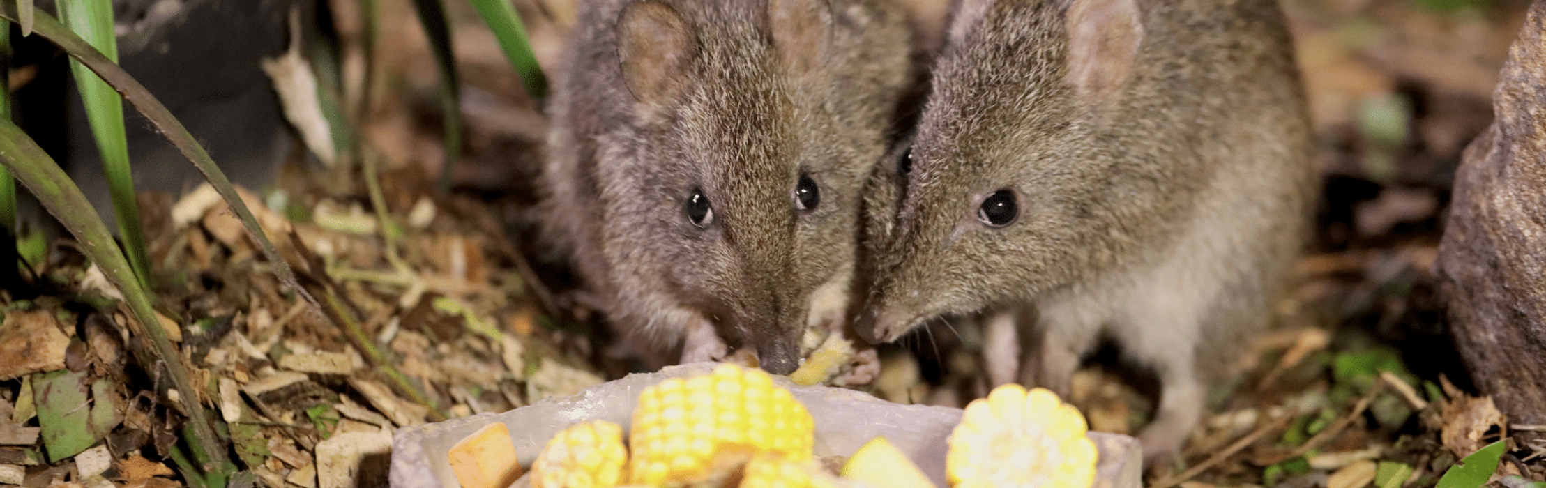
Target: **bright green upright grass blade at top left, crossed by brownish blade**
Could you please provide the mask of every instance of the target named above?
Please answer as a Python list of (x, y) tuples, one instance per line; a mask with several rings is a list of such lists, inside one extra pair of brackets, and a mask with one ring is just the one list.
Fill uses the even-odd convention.
[[(60, 2), (59, 17), (108, 60), (117, 62), (111, 0)], [(135, 269), (141, 284), (150, 286), (150, 259), (145, 258), (145, 233), (139, 225), (135, 175), (128, 167), (128, 139), (124, 134), (124, 99), (80, 62), (71, 60), (70, 71), (76, 76), (87, 120), (91, 122), (91, 134), (96, 136), (97, 151), (102, 154), (102, 168), (107, 171), (108, 193), (113, 196), (113, 213), (117, 216), (117, 232), (124, 238), (128, 266)]]

